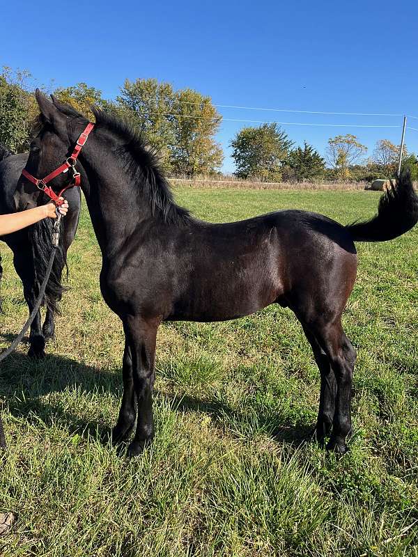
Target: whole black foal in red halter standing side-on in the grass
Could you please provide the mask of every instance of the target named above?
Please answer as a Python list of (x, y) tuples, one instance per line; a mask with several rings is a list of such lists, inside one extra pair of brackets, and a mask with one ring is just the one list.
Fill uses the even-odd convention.
[[(86, 119), (37, 92), (42, 129), (26, 169), (42, 177), (68, 156)], [(350, 226), (298, 210), (212, 224), (173, 201), (153, 152), (114, 116), (95, 110), (96, 125), (80, 159), (83, 189), (102, 251), (100, 287), (123, 322), (123, 398), (113, 439), (137, 429), (137, 455), (153, 438), (155, 339), (164, 320), (219, 321), (269, 304), (293, 310), (311, 344), (321, 387), (316, 435), (344, 453), (351, 432), (356, 352), (341, 327), (355, 282), (354, 242), (392, 240), (418, 221), (409, 175), (380, 200), (376, 217)], [(65, 147), (63, 147), (65, 146)], [(56, 187), (65, 183), (65, 175)], [(33, 185), (20, 180), (21, 200)], [(137, 416), (135, 416), (135, 401)]]

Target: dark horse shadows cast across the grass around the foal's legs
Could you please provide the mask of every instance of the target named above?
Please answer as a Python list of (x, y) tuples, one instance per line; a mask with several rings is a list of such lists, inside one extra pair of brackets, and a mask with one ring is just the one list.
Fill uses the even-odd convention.
[[(100, 369), (63, 356), (48, 354), (45, 359), (33, 360), (23, 354), (13, 354), (1, 363), (0, 397), (8, 401), (10, 414), (16, 418), (26, 418), (28, 423), (38, 425), (40, 421), (49, 426), (58, 422), (70, 434), (83, 437), (98, 437), (107, 444), (111, 428), (105, 425), (107, 418), (86, 421), (68, 407), (61, 405), (59, 399), (42, 400), (50, 393), (62, 393), (77, 389), (80, 393), (91, 395), (111, 395), (121, 399), (121, 369)], [(155, 389), (155, 401), (164, 398), (175, 411), (204, 413), (210, 415), (217, 427), (227, 430), (234, 437), (246, 437), (247, 415), (232, 409), (220, 400), (203, 400), (189, 395), (167, 395)], [(118, 403), (116, 404), (118, 405)], [(269, 434), (272, 439), (298, 445), (309, 438), (311, 425), (294, 426), (281, 421), (280, 416), (257, 416), (257, 431)]]

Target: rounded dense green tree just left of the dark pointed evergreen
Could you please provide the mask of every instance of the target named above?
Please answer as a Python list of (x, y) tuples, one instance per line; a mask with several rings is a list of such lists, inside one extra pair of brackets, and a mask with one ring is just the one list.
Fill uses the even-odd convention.
[(235, 175), (279, 182), (292, 145), (277, 124), (243, 128), (231, 141)]

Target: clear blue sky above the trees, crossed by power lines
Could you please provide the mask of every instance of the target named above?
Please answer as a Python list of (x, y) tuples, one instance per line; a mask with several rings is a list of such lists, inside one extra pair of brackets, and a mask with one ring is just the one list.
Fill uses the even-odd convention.
[[(3, 3), (0, 65), (29, 70), (40, 84), (79, 81), (114, 97), (125, 78), (157, 77), (191, 87), (215, 104), (418, 116), (418, 2), (88, 1)], [(219, 108), (224, 118), (328, 123), (283, 125), (297, 144), (323, 154), (327, 139), (353, 133), (373, 151), (399, 143), (401, 117), (336, 116)], [(418, 129), (418, 120), (409, 124)], [(245, 125), (224, 120), (228, 144)], [(408, 130), (418, 152), (418, 131)]]

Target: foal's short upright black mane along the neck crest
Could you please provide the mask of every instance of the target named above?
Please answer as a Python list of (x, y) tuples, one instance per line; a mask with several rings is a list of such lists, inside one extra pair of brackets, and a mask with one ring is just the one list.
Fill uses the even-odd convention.
[(134, 127), (114, 114), (93, 108), (96, 125), (114, 134), (120, 146), (118, 156), (125, 160), (127, 171), (150, 203), (153, 214), (159, 212), (164, 222), (184, 223), (191, 219), (187, 209), (173, 199), (171, 187), (161, 168), (157, 150), (150, 147)]

